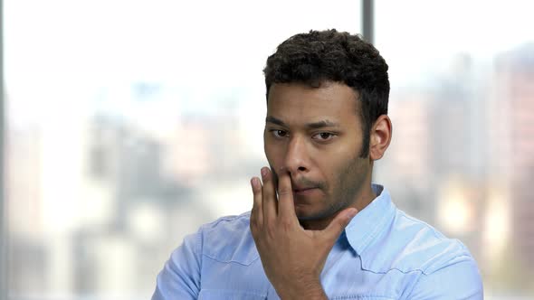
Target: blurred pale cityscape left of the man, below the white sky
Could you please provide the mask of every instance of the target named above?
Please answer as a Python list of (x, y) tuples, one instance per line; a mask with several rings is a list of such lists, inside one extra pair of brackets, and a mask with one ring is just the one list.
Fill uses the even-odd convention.
[[(122, 92), (99, 90), (97, 98), (107, 102), (110, 95), (127, 94), (131, 106), (148, 108), (172, 93), (148, 83), (117, 89)], [(233, 196), (236, 185), (248, 192), (247, 177), (262, 165), (239, 134), (243, 128), (231, 102), (215, 116), (177, 112), (166, 128), (100, 112), (78, 125), (63, 124), (80, 129), (72, 136), (37, 126), (9, 128), (6, 198), (14, 299), (43, 291), (148, 298), (181, 239), (220, 216), (223, 210), (210, 202), (225, 205), (224, 196)]]

